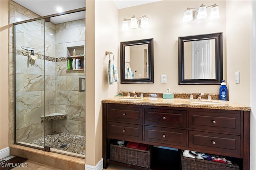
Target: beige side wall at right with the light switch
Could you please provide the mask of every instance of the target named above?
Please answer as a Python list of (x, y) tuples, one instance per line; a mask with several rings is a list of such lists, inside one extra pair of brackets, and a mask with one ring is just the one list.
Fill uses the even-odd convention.
[[(250, 1), (226, 1), (227, 86), (229, 100), (250, 106)], [(235, 72), (240, 71), (240, 83)]]

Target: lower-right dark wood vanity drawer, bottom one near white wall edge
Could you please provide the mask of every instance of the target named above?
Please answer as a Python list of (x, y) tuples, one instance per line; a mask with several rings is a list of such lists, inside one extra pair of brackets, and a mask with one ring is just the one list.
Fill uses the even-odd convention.
[(189, 131), (188, 147), (194, 150), (216, 151), (240, 157), (240, 136)]

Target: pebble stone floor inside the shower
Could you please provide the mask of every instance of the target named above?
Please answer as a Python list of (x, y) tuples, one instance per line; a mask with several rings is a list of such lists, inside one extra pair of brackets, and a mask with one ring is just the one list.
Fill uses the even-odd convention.
[(45, 146), (64, 150), (67, 152), (85, 154), (85, 137), (80, 135), (72, 135), (68, 133), (54, 133), (53, 135), (47, 135), (45, 138), (41, 137), (30, 144)]

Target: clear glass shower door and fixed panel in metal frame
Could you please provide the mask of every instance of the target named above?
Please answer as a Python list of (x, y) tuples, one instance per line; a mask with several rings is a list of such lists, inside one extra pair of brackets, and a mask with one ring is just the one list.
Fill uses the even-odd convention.
[[(85, 65), (66, 71), (69, 58), (85, 59), (85, 8), (77, 12), (84, 18), (14, 23), (14, 143), (84, 158)], [(22, 47), (33, 48), (32, 62)]]

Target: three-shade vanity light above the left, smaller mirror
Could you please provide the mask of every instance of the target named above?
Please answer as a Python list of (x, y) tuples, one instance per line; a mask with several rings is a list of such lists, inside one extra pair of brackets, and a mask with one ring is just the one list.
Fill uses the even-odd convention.
[(122, 22), (122, 30), (127, 30), (128, 29), (128, 20), (130, 21), (130, 28), (140, 28), (140, 27), (148, 27), (148, 17), (146, 15), (136, 18), (135, 16), (132, 16), (131, 19), (124, 18)]

